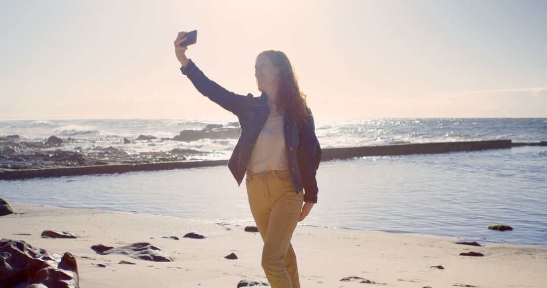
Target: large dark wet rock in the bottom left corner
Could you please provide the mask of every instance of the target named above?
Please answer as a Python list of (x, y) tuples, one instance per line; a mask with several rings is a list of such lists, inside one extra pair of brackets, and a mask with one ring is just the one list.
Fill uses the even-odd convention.
[(0, 287), (79, 287), (76, 259), (34, 248), (25, 241), (0, 241)]

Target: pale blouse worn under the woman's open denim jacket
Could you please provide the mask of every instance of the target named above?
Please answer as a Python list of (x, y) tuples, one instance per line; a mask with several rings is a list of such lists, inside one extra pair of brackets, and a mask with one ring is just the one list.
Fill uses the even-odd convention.
[(277, 112), (276, 105), (268, 103), (268, 106), (270, 115), (260, 130), (247, 164), (247, 169), (251, 172), (289, 169), (285, 150), (283, 115)]

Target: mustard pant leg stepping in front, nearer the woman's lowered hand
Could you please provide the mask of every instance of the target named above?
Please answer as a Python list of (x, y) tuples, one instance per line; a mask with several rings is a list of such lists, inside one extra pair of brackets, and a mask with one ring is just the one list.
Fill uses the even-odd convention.
[(296, 255), (290, 239), (298, 224), (304, 196), (296, 195), (290, 175), (289, 181), (274, 178), (267, 184), (273, 205), (264, 238), (262, 267), (272, 288), (299, 288)]

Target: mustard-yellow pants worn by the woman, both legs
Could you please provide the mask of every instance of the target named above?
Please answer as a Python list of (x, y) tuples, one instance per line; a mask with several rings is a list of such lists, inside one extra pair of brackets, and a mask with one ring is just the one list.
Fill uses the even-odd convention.
[(245, 180), (249, 206), (264, 241), (262, 268), (272, 288), (300, 288), (290, 238), (300, 217), (304, 191), (296, 194), (289, 170), (252, 173)]

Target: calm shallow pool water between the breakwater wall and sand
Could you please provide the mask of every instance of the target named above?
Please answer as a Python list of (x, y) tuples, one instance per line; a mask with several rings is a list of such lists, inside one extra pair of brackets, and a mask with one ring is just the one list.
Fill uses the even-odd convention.
[[(304, 225), (547, 247), (547, 147), (322, 162)], [(252, 221), (225, 166), (0, 181), (9, 201)], [(507, 224), (513, 231), (491, 231)]]

